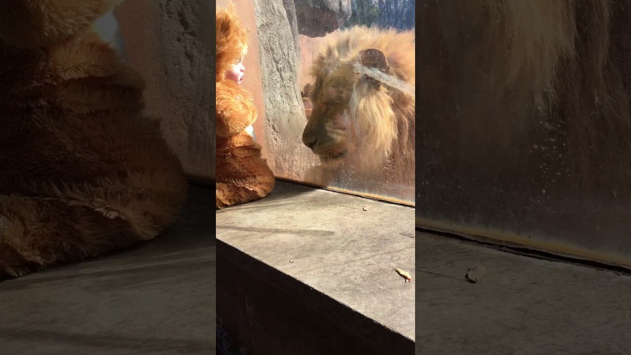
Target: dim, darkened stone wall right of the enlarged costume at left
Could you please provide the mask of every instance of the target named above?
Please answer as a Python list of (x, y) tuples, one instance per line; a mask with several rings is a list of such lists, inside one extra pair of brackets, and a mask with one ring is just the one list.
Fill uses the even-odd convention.
[(146, 81), (146, 114), (162, 119), (190, 178), (215, 178), (215, 33), (204, 0), (128, 0), (117, 9), (127, 59)]

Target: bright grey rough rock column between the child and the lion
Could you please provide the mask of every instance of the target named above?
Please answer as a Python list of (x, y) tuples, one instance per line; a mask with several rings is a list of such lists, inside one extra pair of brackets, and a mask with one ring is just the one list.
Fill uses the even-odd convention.
[(254, 6), (265, 107), (263, 153), (274, 175), (302, 180), (316, 158), (302, 144), (306, 117), (300, 97), (298, 38), (292, 31), (296, 27), (293, 2), (258, 0)]

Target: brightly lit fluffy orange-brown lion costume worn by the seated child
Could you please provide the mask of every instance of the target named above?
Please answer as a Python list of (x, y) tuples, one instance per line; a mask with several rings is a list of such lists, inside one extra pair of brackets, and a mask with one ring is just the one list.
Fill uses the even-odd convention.
[(248, 35), (233, 4), (217, 9), (216, 63), (216, 208), (262, 198), (274, 187), (274, 174), (261, 157), (261, 146), (246, 128), (256, 121), (252, 95), (225, 72), (245, 56)]

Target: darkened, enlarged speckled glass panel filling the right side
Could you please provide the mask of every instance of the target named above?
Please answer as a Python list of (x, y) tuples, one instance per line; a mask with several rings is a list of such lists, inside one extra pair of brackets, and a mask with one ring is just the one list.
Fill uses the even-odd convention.
[(631, 265), (631, 6), (423, 0), (417, 226)]

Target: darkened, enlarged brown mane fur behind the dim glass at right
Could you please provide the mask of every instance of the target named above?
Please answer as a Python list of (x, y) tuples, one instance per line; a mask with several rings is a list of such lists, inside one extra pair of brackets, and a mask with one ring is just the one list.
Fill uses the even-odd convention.
[[(627, 1), (424, 1), (420, 8), (420, 107), (432, 140), (450, 142), (445, 154), (476, 169), (485, 157), (517, 176), (543, 174), (543, 159), (560, 174), (546, 180), (581, 190), (628, 186)], [(537, 152), (535, 144), (550, 147)]]

